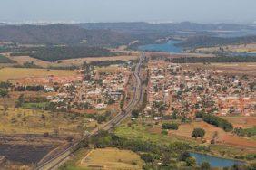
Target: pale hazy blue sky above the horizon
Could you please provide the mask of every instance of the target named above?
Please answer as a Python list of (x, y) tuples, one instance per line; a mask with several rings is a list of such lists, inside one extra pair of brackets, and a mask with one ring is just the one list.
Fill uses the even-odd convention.
[(0, 0), (0, 22), (256, 21), (256, 0)]

